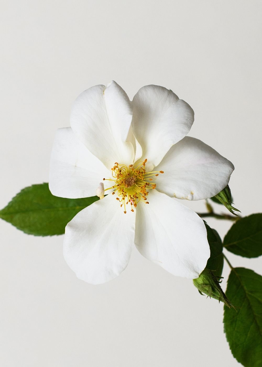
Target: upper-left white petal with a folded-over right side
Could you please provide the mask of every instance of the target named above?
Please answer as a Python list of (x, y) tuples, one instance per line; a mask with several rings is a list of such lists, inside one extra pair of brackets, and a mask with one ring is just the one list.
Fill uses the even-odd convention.
[(110, 170), (114, 162), (130, 164), (134, 148), (126, 141), (132, 108), (125, 91), (114, 81), (94, 86), (77, 97), (70, 124), (77, 137)]

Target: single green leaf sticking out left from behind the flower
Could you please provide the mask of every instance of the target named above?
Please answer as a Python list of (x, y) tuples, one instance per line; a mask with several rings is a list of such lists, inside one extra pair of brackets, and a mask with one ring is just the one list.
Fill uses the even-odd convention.
[(97, 196), (84, 199), (53, 196), (48, 183), (42, 183), (21, 190), (0, 211), (0, 218), (29, 235), (62, 235), (68, 222), (80, 210), (97, 200)]

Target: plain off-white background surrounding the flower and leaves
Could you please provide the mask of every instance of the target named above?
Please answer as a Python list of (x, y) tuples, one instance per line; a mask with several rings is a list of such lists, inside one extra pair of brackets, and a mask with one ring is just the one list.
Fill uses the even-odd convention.
[[(72, 102), (114, 79), (130, 98), (159, 84), (185, 99), (190, 135), (235, 165), (236, 207), (262, 211), (260, 1), (1, 0), (0, 17), (1, 208), (48, 181)], [(203, 201), (186, 205), (204, 211)], [(208, 223), (221, 236), (230, 227)], [(117, 279), (91, 286), (66, 265), (63, 236), (28, 236), (4, 221), (0, 233), (1, 366), (239, 366), (223, 305), (137, 250)], [(228, 257), (262, 273), (261, 258)], [(225, 265), (224, 289), (228, 274)]]

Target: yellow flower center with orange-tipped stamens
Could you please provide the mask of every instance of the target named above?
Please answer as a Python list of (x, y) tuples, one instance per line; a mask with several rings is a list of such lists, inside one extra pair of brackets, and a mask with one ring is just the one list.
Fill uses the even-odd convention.
[[(108, 181), (114, 181), (114, 185), (105, 191), (113, 189), (112, 195), (117, 193), (116, 200), (120, 201), (121, 207), (124, 205), (124, 213), (128, 204), (131, 206), (131, 211), (134, 211), (132, 207), (137, 207), (139, 201), (149, 204), (147, 201), (149, 190), (156, 188), (156, 183), (152, 182), (152, 176), (157, 177), (159, 173), (164, 173), (163, 171), (146, 172), (146, 162), (147, 159), (136, 163), (135, 166), (130, 164), (128, 167), (116, 162), (111, 168), (113, 179)], [(103, 180), (105, 181), (105, 178)]]

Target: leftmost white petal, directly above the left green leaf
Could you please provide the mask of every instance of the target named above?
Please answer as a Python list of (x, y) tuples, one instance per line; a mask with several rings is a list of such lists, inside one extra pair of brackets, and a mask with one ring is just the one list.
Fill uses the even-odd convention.
[(55, 196), (90, 197), (111, 172), (77, 139), (70, 127), (58, 129), (51, 154), (49, 189)]

